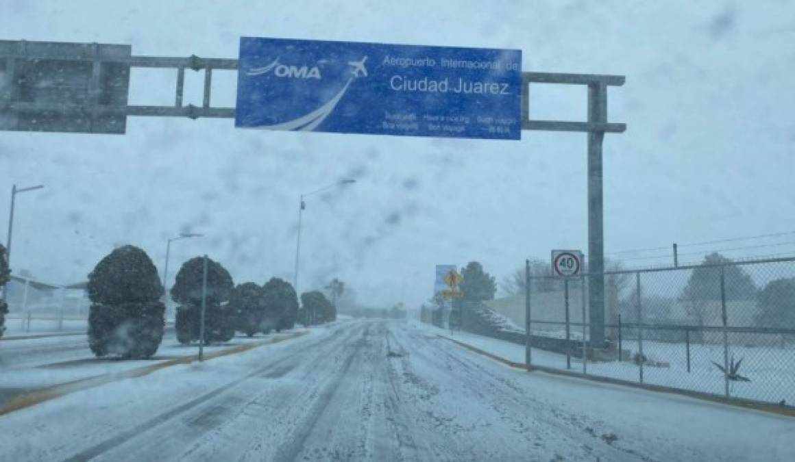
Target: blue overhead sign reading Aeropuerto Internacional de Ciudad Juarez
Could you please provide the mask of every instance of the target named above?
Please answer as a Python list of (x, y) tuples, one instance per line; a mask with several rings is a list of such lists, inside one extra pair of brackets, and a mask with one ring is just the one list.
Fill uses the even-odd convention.
[(518, 140), (522, 52), (242, 37), (235, 126)]

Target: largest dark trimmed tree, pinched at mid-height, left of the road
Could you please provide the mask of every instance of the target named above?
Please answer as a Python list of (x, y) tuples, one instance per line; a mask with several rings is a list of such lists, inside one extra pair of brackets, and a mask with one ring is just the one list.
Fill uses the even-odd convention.
[(96, 356), (152, 356), (163, 339), (163, 287), (152, 260), (125, 245), (88, 275), (88, 346)]

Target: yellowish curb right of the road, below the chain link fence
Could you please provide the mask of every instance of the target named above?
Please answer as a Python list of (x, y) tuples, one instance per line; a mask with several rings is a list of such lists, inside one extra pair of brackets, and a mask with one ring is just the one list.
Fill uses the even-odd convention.
[(766, 414), (776, 414), (783, 417), (795, 417), (795, 408), (776, 406), (774, 404), (767, 404), (765, 402), (747, 401), (740, 398), (724, 398), (723, 396), (709, 395), (708, 393), (700, 393), (698, 391), (679, 390), (675, 388), (662, 387), (661, 385), (653, 385), (650, 383), (629, 382), (627, 380), (612, 379), (610, 377), (602, 377), (599, 375), (583, 375), (578, 372), (561, 371), (560, 369), (547, 368), (545, 366), (533, 366), (532, 364), (530, 365), (529, 368), (527, 368), (527, 366), (524, 363), (517, 363), (511, 360), (506, 360), (502, 356), (497, 356), (493, 353), (484, 351), (480, 348), (476, 348), (472, 345), (463, 343), (462, 341), (457, 341), (450, 337), (445, 337), (444, 335), (440, 335), (438, 333), (436, 334), (436, 337), (452, 341), (456, 345), (460, 345), (463, 348), (467, 348), (468, 350), (476, 352), (479, 355), (487, 356), (488, 358), (491, 358), (492, 360), (495, 360), (498, 363), (506, 364), (511, 368), (522, 369), (522, 371), (526, 372), (539, 371), (551, 375), (563, 375), (565, 377), (572, 377), (574, 379), (590, 380), (591, 382), (610, 383), (612, 385), (622, 385), (624, 387), (638, 388), (646, 391), (656, 391), (657, 393), (666, 393), (668, 395), (680, 395), (688, 398), (696, 398), (701, 401), (715, 402), (718, 404), (724, 404), (727, 406), (743, 410), (758, 410)]

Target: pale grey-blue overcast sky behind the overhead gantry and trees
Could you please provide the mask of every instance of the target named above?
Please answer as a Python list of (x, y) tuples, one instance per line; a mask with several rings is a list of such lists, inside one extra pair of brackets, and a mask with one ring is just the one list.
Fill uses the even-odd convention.
[[(224, 58), (240, 36), (520, 48), (525, 71), (626, 75), (608, 117), (628, 129), (604, 144), (610, 253), (795, 230), (793, 18), (785, 0), (0, 0), (0, 40)], [(173, 103), (174, 75), (134, 71), (130, 102)], [(186, 104), (200, 104), (200, 77), (188, 73)], [(235, 75), (213, 78), (214, 105), (233, 106)], [(584, 120), (583, 87), (531, 91), (532, 117)], [(551, 248), (587, 250), (585, 160), (581, 133), (465, 141), (130, 117), (126, 135), (0, 133), (0, 188), (46, 185), (17, 196), (14, 271), (71, 283), (127, 243), (162, 271), (166, 238), (190, 230), (207, 237), (174, 244), (172, 275), (207, 252), (235, 283), (262, 283), (292, 279), (298, 195), (355, 178), (308, 201), (301, 291), (336, 276), (370, 305), (417, 306), (435, 264), (480, 260), (500, 279)], [(727, 255), (781, 252), (795, 245)]]

